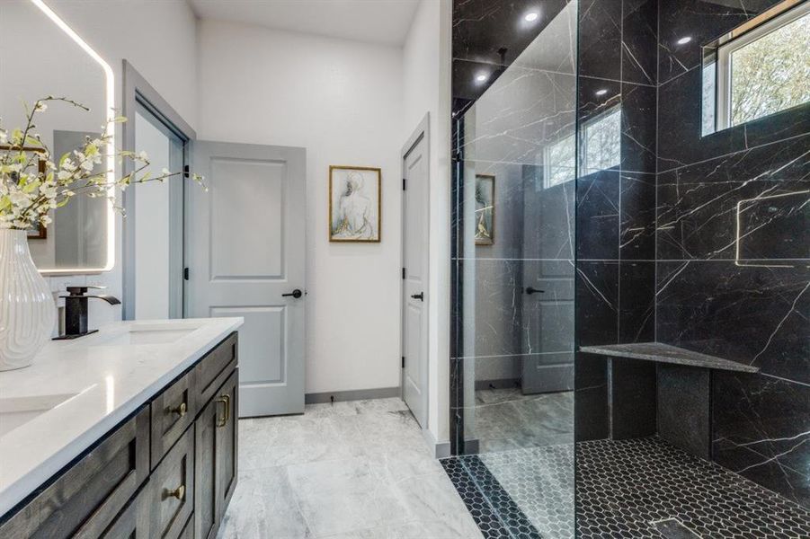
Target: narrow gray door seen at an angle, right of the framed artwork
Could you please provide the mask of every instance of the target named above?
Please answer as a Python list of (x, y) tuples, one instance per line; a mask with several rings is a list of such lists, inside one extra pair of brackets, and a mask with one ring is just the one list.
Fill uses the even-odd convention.
[(428, 155), (420, 137), (403, 163), (402, 393), (414, 418), (427, 426)]

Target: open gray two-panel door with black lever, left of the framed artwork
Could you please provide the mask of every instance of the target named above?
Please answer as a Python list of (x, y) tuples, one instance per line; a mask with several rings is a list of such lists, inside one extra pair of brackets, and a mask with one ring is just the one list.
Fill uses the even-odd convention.
[(192, 151), (209, 190), (187, 190), (186, 314), (245, 318), (240, 417), (301, 413), (306, 151), (206, 141)]

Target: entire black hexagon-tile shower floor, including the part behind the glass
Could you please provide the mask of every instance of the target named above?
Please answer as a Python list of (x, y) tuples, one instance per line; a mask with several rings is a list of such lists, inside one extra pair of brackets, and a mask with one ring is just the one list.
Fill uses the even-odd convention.
[[(571, 445), (441, 463), (487, 539), (574, 537)], [(583, 539), (810, 537), (810, 511), (658, 437), (578, 443), (576, 478)]]

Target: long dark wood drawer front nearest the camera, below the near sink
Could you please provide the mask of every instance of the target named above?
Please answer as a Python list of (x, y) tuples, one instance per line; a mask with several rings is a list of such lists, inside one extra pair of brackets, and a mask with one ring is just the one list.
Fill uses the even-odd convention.
[(98, 537), (149, 476), (144, 407), (0, 526), (0, 537)]

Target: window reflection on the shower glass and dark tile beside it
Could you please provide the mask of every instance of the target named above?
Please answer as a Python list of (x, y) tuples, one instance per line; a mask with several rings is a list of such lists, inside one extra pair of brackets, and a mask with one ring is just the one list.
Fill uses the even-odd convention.
[[(616, 166), (621, 160), (621, 107), (614, 107), (583, 122), (580, 135), (580, 174)], [(574, 135), (546, 146), (544, 187), (574, 180), (576, 145)]]

